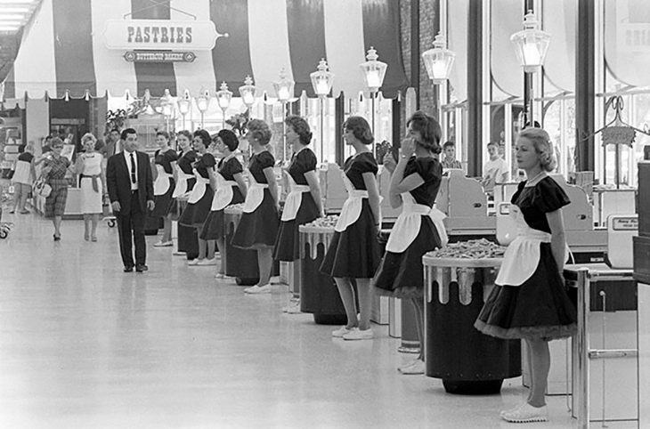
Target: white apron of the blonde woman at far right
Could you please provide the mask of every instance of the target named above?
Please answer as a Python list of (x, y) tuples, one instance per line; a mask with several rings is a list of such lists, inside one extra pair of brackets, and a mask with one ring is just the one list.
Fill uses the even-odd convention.
[(537, 270), (540, 263), (540, 244), (550, 243), (551, 235), (528, 226), (524, 214), (515, 204), (510, 205), (510, 215), (515, 217), (516, 238), (503, 255), (503, 263), (495, 283), (501, 286), (520, 286)]

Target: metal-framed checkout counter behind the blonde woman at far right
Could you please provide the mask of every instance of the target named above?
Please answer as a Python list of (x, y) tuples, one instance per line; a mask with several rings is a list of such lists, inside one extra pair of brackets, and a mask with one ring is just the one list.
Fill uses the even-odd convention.
[[(567, 265), (565, 279), (577, 297), (572, 392), (578, 427), (589, 427), (589, 421), (626, 420), (647, 427), (650, 404), (640, 393), (650, 379), (647, 371), (640, 371), (638, 360), (639, 344), (647, 344), (647, 334), (646, 329), (638, 332), (637, 326), (644, 326), (638, 323), (647, 318), (648, 309), (612, 311), (608, 304), (617, 285), (635, 281), (633, 271), (613, 270), (605, 263)], [(646, 421), (641, 424), (644, 412)]]

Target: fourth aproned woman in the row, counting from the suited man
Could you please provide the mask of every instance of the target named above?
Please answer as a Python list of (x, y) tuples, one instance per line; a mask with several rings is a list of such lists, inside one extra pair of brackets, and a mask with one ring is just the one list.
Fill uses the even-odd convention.
[[(237, 135), (231, 130), (221, 130), (216, 134), (216, 149), (223, 154), (223, 158), (217, 166), (217, 173), (214, 175), (215, 182), (212, 187), (215, 189), (215, 197), (212, 199), (210, 214), (207, 215), (206, 223), (203, 224), (200, 239), (215, 240), (219, 252), (223, 255), (225, 242), (225, 227), (223, 225), (223, 210), (232, 204), (243, 203), (246, 198), (246, 182), (244, 182), (244, 171), (240, 160), (235, 157), (238, 146)], [(223, 257), (217, 270), (216, 277), (222, 279)]]

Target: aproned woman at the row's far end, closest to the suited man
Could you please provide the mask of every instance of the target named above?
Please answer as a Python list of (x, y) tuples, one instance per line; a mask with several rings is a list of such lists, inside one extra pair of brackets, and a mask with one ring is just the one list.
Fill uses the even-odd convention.
[(178, 155), (176, 151), (169, 147), (169, 133), (167, 131), (158, 131), (156, 133), (156, 143), (158, 150), (154, 156), (154, 166), (156, 168), (156, 181), (153, 182), (153, 199), (155, 208), (150, 216), (163, 219), (163, 235), (154, 247), (170, 247), (172, 242), (172, 220), (167, 216), (172, 204), (172, 194), (174, 193), (175, 180), (174, 170)]

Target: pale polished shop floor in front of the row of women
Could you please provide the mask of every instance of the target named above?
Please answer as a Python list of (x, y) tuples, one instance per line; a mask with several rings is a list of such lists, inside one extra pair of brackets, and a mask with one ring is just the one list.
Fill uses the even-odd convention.
[[(333, 339), (281, 312), (287, 287), (246, 296), (155, 237), (150, 271), (123, 273), (105, 223), (93, 243), (64, 221), (54, 242), (37, 214), (3, 220), (15, 225), (0, 239), (0, 428), (500, 428), (527, 392), (521, 378), (466, 397), (401, 376), (410, 356), (386, 326)], [(548, 404), (548, 423), (524, 426), (577, 427), (564, 396)]]

